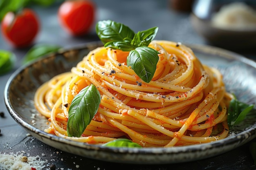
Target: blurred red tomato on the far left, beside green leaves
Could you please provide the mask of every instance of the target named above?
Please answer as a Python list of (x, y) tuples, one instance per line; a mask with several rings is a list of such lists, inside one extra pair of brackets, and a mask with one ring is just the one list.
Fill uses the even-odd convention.
[(1, 29), (13, 46), (22, 48), (34, 41), (39, 31), (39, 20), (31, 9), (23, 9), (17, 14), (8, 12), (2, 20)]

